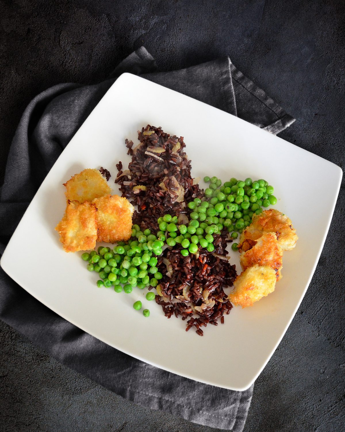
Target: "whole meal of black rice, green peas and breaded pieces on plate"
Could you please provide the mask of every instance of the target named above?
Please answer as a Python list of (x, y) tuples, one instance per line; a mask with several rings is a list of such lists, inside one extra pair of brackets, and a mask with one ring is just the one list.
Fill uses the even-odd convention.
[[(116, 165), (122, 196), (111, 195), (109, 171), (85, 169), (64, 184), (67, 207), (56, 230), (66, 252), (94, 249), (82, 259), (98, 273), (98, 287), (128, 294), (147, 287), (147, 301), (155, 300), (167, 318), (181, 316), (186, 331), (194, 327), (202, 336), (201, 327), (223, 324), (233, 305), (251, 306), (274, 291), (282, 253), (298, 237), (287, 216), (263, 211), (277, 202), (267, 181), (222, 184), (206, 176), (203, 190), (191, 177), (183, 137), (147, 125), (138, 140), (136, 146), (125, 140), (128, 168)], [(96, 241), (116, 244), (96, 251)], [(239, 276), (228, 243), (241, 253)], [(227, 295), (224, 289), (232, 286)], [(142, 302), (133, 308), (141, 310)]]

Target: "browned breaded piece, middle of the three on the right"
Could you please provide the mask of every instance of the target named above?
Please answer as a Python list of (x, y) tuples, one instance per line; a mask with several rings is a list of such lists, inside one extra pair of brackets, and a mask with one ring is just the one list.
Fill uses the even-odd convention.
[(282, 277), (283, 253), (278, 245), (276, 233), (264, 232), (260, 238), (255, 241), (255, 245), (242, 252), (240, 263), (243, 270), (254, 265), (269, 266), (276, 272), (277, 281)]

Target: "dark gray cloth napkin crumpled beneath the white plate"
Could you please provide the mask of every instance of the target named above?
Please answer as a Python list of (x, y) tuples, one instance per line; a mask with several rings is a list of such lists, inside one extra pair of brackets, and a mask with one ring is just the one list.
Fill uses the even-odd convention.
[[(10, 148), (0, 193), (0, 254), (56, 159), (123, 72), (138, 74), (238, 115), (271, 133), (279, 133), (294, 121), (238, 71), (229, 57), (162, 73), (157, 72), (154, 58), (141, 47), (100, 84), (51, 87), (25, 109)], [(55, 314), (11, 280), (2, 268), (0, 318), (59, 362), (135, 403), (233, 432), (241, 432), (245, 425), (253, 386), (242, 392), (229, 391), (134, 359)]]

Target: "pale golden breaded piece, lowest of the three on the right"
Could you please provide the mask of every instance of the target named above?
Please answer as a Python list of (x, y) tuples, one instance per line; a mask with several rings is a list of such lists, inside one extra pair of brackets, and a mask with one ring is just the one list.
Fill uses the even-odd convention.
[(246, 308), (274, 291), (276, 272), (268, 266), (248, 267), (237, 276), (228, 299), (234, 306)]

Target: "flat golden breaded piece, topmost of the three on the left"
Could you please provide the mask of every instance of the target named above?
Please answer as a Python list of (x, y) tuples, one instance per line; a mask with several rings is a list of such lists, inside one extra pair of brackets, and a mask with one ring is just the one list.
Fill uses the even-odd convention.
[(98, 169), (87, 168), (79, 174), (75, 174), (66, 183), (66, 198), (67, 200), (92, 201), (95, 198), (103, 197), (110, 194), (111, 189), (107, 184), (107, 180), (102, 176)]

